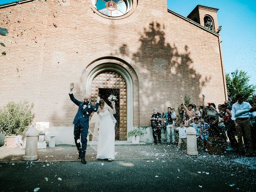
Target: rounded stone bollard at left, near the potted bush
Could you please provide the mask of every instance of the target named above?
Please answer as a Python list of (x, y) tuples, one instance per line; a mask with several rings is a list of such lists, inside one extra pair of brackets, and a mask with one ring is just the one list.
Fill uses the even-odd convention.
[(37, 142), (38, 142), (38, 130), (34, 126), (30, 127), (26, 132), (26, 149), (24, 161), (37, 160)]

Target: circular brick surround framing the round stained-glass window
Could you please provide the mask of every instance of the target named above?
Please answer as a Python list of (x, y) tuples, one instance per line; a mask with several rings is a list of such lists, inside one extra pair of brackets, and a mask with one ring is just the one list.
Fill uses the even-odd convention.
[(132, 8), (126, 14), (118, 17), (111, 17), (99, 12), (92, 4), (92, 0), (84, 1), (87, 12), (95, 19), (105, 24), (124, 24), (138, 16), (142, 10), (143, 0), (133, 0)]

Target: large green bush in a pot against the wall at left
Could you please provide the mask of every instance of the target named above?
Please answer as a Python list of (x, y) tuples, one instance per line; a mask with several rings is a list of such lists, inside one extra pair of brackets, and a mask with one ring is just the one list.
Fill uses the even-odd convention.
[[(9, 102), (0, 109), (0, 132), (6, 136), (7, 147), (18, 146), (15, 144), (15, 138), (17, 135), (22, 135), (33, 121), (34, 114), (31, 112), (33, 107), (33, 103), (30, 105), (28, 101), (24, 101)], [(9, 141), (13, 141), (14, 144), (10, 144)]]

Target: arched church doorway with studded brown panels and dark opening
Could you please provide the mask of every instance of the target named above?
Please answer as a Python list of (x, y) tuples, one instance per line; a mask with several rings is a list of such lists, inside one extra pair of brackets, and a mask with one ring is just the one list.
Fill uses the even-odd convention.
[(108, 101), (110, 95), (117, 98), (116, 101), (116, 140), (126, 140), (127, 134), (127, 86), (124, 77), (118, 72), (104, 70), (99, 72), (91, 83), (91, 98), (96, 102), (96, 97), (100, 96), (111, 106)]

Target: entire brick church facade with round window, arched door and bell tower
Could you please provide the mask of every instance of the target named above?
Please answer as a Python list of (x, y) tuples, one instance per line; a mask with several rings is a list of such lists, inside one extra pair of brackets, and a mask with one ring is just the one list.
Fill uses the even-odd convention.
[(168, 10), (166, 1), (152, 0), (2, 5), (1, 27), (9, 34), (0, 36), (6, 46), (0, 57), (0, 107), (33, 102), (34, 122), (50, 122), (60, 133), (57, 144), (70, 144), (77, 111), (68, 96), (71, 82), (78, 100), (85, 92), (93, 102), (99, 94), (118, 94), (117, 140), (126, 140), (132, 126), (150, 126), (154, 108), (173, 106), (177, 112), (180, 95), (198, 105), (202, 94), (206, 102), (223, 103), (217, 11), (196, 6), (184, 17)]

